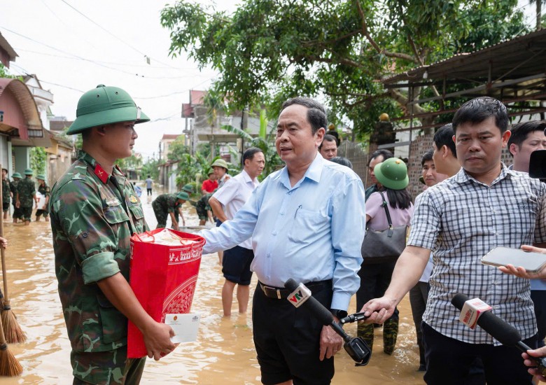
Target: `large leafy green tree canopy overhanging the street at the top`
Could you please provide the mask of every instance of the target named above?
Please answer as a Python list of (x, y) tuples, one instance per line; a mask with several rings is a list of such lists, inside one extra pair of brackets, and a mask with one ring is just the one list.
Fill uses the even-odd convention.
[(276, 118), (288, 97), (319, 97), (360, 133), (407, 104), (382, 79), (512, 38), (523, 20), (517, 0), (246, 0), (232, 14), (179, 1), (161, 15), (170, 53), (218, 69), (214, 87), (238, 109), (266, 102)]

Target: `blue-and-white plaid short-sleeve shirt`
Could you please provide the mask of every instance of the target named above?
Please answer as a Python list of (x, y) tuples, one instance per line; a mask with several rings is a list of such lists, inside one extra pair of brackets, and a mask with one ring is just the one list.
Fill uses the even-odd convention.
[(407, 244), (434, 251), (423, 321), (447, 337), (499, 345), (482, 328), (471, 330), (458, 321), (451, 298), (462, 293), (490, 304), (493, 314), (524, 339), (535, 334), (528, 279), (482, 265), (480, 258), (496, 246), (519, 248), (546, 241), (545, 198), (544, 183), (504, 165), (491, 186), (461, 169), (417, 197)]

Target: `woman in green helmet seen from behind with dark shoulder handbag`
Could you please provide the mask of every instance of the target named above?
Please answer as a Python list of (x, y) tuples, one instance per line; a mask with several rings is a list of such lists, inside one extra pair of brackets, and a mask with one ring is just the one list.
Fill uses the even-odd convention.
[[(406, 230), (413, 215), (412, 197), (406, 190), (409, 179), (405, 162), (390, 158), (374, 167), (381, 188), (366, 201), (366, 235), (362, 244), (360, 288), (356, 309), (384, 295), (391, 283), (396, 260), (405, 247)], [(372, 349), (374, 325), (358, 323), (358, 337)], [(383, 351), (392, 354), (398, 337), (398, 309), (383, 325)]]

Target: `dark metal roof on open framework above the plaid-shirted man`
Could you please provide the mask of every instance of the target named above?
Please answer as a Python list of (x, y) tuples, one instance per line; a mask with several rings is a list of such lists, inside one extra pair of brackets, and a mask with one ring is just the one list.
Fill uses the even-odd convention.
[[(475, 52), (454, 55), (441, 62), (420, 66), (382, 80), (384, 87), (410, 88), (435, 85), (439, 96), (407, 102), (406, 115), (393, 120), (430, 118), (456, 109), (444, 109), (444, 101), (456, 97), (491, 96), (507, 105), (510, 116), (545, 113), (545, 106), (516, 102), (546, 100), (546, 29), (518, 36)], [(413, 104), (440, 102), (440, 109), (426, 113), (412, 113)], [(416, 130), (439, 127), (434, 122), (426, 126), (402, 128)]]

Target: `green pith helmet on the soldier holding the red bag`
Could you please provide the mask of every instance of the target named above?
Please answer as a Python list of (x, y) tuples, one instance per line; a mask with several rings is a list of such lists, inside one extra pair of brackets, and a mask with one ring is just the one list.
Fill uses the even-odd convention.
[(144, 123), (150, 118), (141, 112), (127, 92), (118, 87), (106, 87), (104, 84), (85, 92), (78, 101), (76, 120), (66, 134), (78, 134), (87, 128), (112, 123)]

